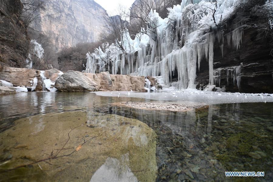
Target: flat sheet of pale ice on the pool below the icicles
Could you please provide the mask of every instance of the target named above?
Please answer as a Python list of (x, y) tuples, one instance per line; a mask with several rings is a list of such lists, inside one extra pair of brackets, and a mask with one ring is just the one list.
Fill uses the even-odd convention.
[(134, 97), (157, 101), (179, 101), (194, 105), (213, 105), (225, 103), (245, 102), (273, 102), (273, 94), (244, 94), (230, 92), (199, 91), (196, 89), (185, 89), (175, 92), (151, 92), (140, 93), (127, 91), (95, 92), (100, 96), (108, 97)]

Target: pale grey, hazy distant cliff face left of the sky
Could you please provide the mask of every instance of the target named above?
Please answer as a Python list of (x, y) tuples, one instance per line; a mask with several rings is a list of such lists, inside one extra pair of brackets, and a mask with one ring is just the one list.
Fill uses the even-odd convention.
[(93, 0), (46, 0), (46, 9), (33, 26), (51, 37), (56, 51), (98, 40), (106, 11)]

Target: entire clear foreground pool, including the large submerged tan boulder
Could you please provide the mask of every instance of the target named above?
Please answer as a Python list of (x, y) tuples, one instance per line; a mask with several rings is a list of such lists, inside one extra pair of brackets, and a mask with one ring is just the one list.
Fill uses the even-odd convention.
[[(0, 96), (0, 181), (272, 180), (272, 102), (186, 112), (113, 105), (127, 101), (155, 100), (61, 92)], [(225, 177), (225, 171), (264, 171), (264, 177)]]

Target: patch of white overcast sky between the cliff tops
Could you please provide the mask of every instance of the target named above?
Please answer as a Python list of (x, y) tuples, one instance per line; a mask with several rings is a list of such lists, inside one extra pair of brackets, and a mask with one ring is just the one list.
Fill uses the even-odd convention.
[(118, 4), (121, 4), (122, 6), (125, 6), (127, 9), (131, 7), (133, 2), (135, 0), (94, 0), (97, 2), (99, 5), (101, 5), (109, 14), (115, 13), (115, 10), (118, 8)]

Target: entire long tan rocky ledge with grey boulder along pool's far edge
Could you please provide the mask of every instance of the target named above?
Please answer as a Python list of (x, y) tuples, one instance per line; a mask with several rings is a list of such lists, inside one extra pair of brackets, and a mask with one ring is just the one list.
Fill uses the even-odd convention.
[[(149, 77), (156, 84), (154, 78)], [(0, 67), (0, 94), (20, 91), (140, 91), (145, 92), (145, 77), (82, 73), (69, 70), (35, 70), (26, 68)], [(152, 84), (151, 84), (152, 86)]]

